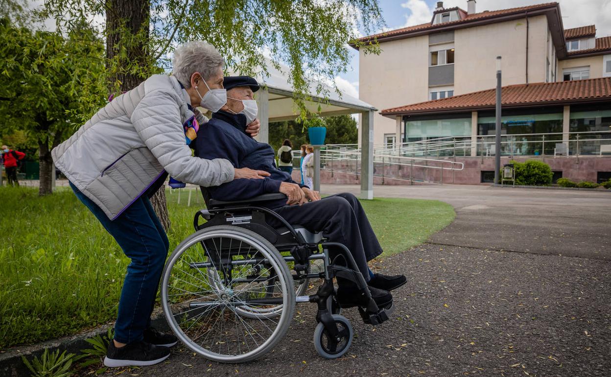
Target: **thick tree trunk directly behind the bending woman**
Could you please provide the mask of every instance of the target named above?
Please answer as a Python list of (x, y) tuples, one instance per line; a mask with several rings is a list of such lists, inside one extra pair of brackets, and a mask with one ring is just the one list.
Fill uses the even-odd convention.
[[(108, 67), (111, 93), (114, 93), (115, 83), (119, 82), (120, 92), (126, 92), (138, 86), (145, 78), (128, 69), (129, 65), (137, 65), (145, 72), (151, 67), (151, 57), (148, 54), (148, 18), (150, 15), (150, 0), (107, 0), (106, 2), (106, 58), (109, 65), (115, 59), (120, 60), (117, 66)], [(136, 37), (140, 35), (141, 37)], [(126, 54), (120, 54), (124, 49)], [(122, 58), (123, 56), (123, 58)], [(165, 185), (151, 198), (151, 203), (161, 225), (170, 229), (170, 218), (167, 214)]]

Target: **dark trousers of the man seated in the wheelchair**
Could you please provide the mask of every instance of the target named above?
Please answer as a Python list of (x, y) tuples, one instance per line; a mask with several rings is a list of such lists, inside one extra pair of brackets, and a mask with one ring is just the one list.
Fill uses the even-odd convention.
[[(353, 194), (342, 192), (316, 202), (285, 205), (274, 211), (290, 224), (303, 225), (310, 232), (323, 232), (329, 241), (344, 244), (353, 255), (360, 273), (369, 281), (367, 261), (382, 254), (382, 247), (363, 207)], [(270, 225), (281, 225), (274, 222), (277, 221), (271, 221)]]

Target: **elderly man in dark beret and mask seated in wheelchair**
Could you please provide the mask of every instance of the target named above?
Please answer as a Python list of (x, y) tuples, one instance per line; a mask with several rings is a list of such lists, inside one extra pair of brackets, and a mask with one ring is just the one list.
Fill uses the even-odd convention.
[[(301, 224), (325, 238), (345, 244), (353, 254), (360, 272), (368, 281), (371, 296), (378, 306), (392, 303), (389, 291), (405, 284), (403, 275), (374, 274), (367, 261), (377, 257), (382, 247), (371, 229), (365, 211), (352, 194), (342, 193), (321, 199), (320, 194), (299, 185), (291, 176), (276, 167), (274, 150), (269, 144), (255, 141), (245, 132), (246, 125), (257, 115), (253, 93), (257, 81), (248, 76), (225, 77), (227, 104), (202, 125), (196, 138), (196, 156), (206, 159), (228, 159), (234, 167), (249, 167), (268, 172), (263, 179), (238, 179), (207, 188), (212, 199), (240, 200), (282, 192), (288, 200), (266, 204), (292, 224)], [(214, 141), (214, 142), (210, 142)], [(271, 220), (273, 221), (273, 220)], [(270, 224), (279, 226), (280, 224)], [(342, 307), (364, 304), (356, 285), (338, 279), (338, 301)]]

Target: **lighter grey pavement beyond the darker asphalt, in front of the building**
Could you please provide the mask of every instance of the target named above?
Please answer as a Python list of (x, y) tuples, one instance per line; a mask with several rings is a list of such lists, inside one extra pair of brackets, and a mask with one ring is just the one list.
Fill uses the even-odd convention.
[[(324, 193), (356, 185), (323, 185)], [(611, 259), (611, 192), (492, 186), (375, 186), (375, 196), (437, 199), (456, 220), (431, 242), (536, 254)]]

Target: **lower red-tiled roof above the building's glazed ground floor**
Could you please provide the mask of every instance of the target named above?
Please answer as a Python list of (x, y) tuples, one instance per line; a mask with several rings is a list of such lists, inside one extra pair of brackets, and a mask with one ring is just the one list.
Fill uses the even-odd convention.
[[(611, 100), (611, 78), (598, 78), (561, 82), (537, 82), (535, 84), (511, 85), (502, 88), (503, 106), (549, 103), (608, 98)], [(494, 108), (496, 89), (456, 95), (442, 100), (409, 104), (382, 110), (382, 115), (417, 114), (437, 111), (456, 111), (473, 108)]]

